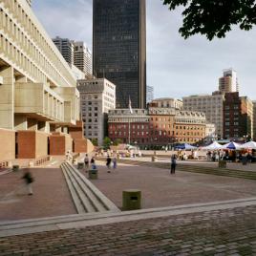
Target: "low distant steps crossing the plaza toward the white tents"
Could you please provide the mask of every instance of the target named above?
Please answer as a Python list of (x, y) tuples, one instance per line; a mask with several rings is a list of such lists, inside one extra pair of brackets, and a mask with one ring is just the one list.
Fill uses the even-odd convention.
[[(97, 160), (105, 160), (105, 159), (97, 158)], [(161, 169), (170, 169), (171, 167), (169, 162), (160, 162), (160, 161), (152, 162), (152, 161), (143, 161), (143, 160), (120, 159), (118, 160), (118, 162), (131, 164), (131, 165), (145, 165), (145, 166), (157, 167)], [(234, 170), (234, 169), (227, 169), (227, 168), (205, 167), (205, 166), (199, 166), (196, 164), (193, 164), (193, 165), (182, 164), (180, 162), (177, 165), (177, 171), (203, 173), (203, 174), (210, 174), (210, 175), (219, 175), (219, 176), (227, 176), (227, 177), (234, 177), (234, 178), (241, 178), (241, 179), (248, 179), (248, 180), (256, 180), (256, 171), (242, 171), (242, 170)]]

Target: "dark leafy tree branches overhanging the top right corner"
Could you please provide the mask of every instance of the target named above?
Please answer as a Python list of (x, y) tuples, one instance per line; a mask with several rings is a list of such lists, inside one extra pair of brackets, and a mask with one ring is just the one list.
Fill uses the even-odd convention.
[(185, 39), (196, 33), (209, 40), (222, 38), (233, 25), (249, 31), (256, 24), (255, 0), (163, 0), (163, 4), (170, 11), (179, 6), (185, 8), (179, 30)]

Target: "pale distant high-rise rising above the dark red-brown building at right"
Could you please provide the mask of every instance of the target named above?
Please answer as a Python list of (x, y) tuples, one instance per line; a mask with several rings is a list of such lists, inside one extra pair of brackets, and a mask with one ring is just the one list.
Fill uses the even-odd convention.
[(219, 91), (222, 93), (235, 93), (239, 91), (237, 73), (233, 69), (224, 70), (219, 79)]

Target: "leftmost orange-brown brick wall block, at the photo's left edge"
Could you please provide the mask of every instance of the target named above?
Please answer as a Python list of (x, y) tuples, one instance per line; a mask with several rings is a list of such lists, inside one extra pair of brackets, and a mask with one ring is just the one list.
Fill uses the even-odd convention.
[(15, 159), (15, 131), (0, 129), (0, 162)]

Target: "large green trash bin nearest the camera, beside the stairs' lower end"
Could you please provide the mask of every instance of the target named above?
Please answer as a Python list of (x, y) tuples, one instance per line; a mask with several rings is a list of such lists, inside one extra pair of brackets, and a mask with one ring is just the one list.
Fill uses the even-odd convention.
[(122, 210), (141, 209), (141, 191), (138, 189), (128, 189), (122, 191)]

